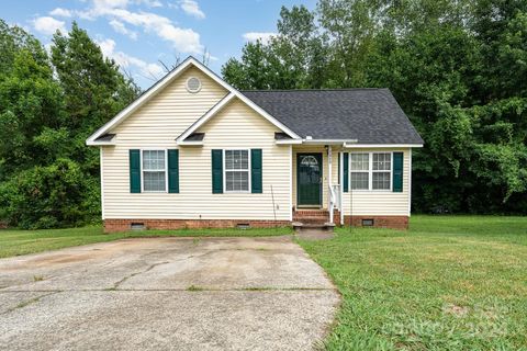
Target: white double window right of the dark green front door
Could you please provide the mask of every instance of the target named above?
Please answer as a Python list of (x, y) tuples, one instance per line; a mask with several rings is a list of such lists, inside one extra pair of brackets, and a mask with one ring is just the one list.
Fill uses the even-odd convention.
[(390, 190), (392, 152), (350, 154), (351, 190)]

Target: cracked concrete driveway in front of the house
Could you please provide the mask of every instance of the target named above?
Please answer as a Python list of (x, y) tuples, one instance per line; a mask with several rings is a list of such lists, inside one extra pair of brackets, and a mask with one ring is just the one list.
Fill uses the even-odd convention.
[(310, 350), (338, 302), (288, 237), (125, 239), (0, 260), (0, 349)]

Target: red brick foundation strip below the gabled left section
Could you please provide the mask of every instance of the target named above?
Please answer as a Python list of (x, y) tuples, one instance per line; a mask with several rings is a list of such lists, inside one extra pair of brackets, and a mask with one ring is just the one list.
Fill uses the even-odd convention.
[(234, 228), (238, 224), (248, 224), (254, 228), (290, 226), (289, 220), (247, 220), (247, 219), (104, 219), (104, 233), (131, 230), (132, 223), (142, 223), (145, 229), (187, 229), (187, 228)]

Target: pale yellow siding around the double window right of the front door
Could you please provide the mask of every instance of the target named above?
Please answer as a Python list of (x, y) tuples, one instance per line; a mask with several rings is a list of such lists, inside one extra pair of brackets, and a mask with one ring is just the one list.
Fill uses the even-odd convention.
[[(407, 216), (408, 213), (408, 181), (410, 181), (410, 150), (408, 149), (346, 149), (348, 152), (393, 152), (403, 151), (403, 191), (365, 191), (355, 190), (350, 193), (344, 193), (343, 208), (345, 215), (371, 215), (371, 216)], [(393, 165), (392, 165), (393, 168)]]

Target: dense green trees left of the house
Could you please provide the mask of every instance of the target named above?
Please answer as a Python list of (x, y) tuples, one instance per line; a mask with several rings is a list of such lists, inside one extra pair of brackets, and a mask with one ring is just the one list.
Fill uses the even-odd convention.
[(23, 228), (97, 220), (99, 152), (85, 140), (137, 87), (77, 24), (55, 35), (49, 58), (0, 20), (0, 220)]

